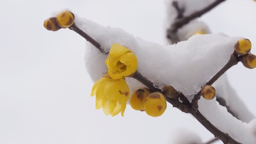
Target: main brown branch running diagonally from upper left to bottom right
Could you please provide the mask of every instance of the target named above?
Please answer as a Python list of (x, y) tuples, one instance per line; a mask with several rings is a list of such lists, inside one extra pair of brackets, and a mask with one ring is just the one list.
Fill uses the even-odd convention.
[[(102, 50), (102, 48), (100, 47), (100, 44), (98, 42), (96, 42), (96, 40), (94, 40), (93, 38), (88, 36), (88, 34), (83, 32), (82, 30), (80, 30), (80, 28), (78, 28), (75, 24), (72, 25), (70, 30), (74, 30), (76, 33), (80, 34), (80, 36), (82, 36), (83, 38), (85, 38), (86, 40), (91, 42), (96, 48), (98, 48), (98, 50), (100, 50), (100, 52), (107, 54), (106, 52), (104, 52), (104, 50)], [(232, 58), (230, 58), (230, 59), (232, 59)], [(239, 59), (239, 58), (236, 58), (236, 59)], [(132, 77), (135, 78), (136, 80), (138, 80), (139, 82), (141, 82), (142, 84), (144, 84), (145, 86), (147, 86), (148, 88), (150, 88), (151, 90), (153, 90), (155, 92), (162, 92), (162, 90), (160, 90), (159, 88), (156, 88), (150, 80), (148, 80), (147, 78), (142, 76), (138, 71), (136, 71)], [(168, 98), (168, 97), (166, 97), (166, 101), (169, 102), (170, 104), (172, 104), (173, 107), (176, 107), (179, 110), (181, 110), (182, 112), (192, 114), (207, 130), (209, 130), (212, 134), (214, 134), (214, 136), (220, 138), (220, 140), (222, 140), (222, 142), (224, 142), (224, 144), (240, 144), (240, 143), (236, 142), (234, 139), (232, 139), (228, 134), (224, 134), (223, 132), (218, 130), (218, 128), (213, 126), (198, 111), (198, 109), (192, 108), (191, 104), (188, 102), (186, 97), (181, 92), (178, 92), (178, 96), (179, 96), (180, 100), (182, 100), (182, 102), (180, 102), (179, 100), (174, 100), (174, 99)], [(197, 104), (197, 102), (196, 102), (196, 104)]]

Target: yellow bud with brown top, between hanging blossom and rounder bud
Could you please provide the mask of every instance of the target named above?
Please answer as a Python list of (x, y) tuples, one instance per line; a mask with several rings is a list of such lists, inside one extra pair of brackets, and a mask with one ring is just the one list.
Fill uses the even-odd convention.
[(130, 105), (134, 110), (144, 110), (144, 104), (146, 102), (146, 98), (152, 93), (149, 88), (140, 88), (136, 90), (130, 99)]

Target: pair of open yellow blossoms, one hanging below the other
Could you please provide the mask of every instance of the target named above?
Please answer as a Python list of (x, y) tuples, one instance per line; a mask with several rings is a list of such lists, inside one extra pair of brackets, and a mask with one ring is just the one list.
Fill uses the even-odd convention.
[(96, 95), (96, 109), (102, 108), (106, 115), (115, 116), (121, 112), (124, 116), (130, 90), (125, 78), (133, 76), (138, 68), (134, 53), (120, 44), (112, 44), (105, 61), (108, 74), (94, 83), (91, 96)]

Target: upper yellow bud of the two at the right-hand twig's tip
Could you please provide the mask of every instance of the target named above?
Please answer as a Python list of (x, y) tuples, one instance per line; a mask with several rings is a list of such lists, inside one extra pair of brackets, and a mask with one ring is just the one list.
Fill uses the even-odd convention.
[(252, 43), (250, 42), (250, 40), (245, 38), (238, 40), (235, 44), (235, 50), (239, 55), (248, 54), (251, 48), (252, 48)]

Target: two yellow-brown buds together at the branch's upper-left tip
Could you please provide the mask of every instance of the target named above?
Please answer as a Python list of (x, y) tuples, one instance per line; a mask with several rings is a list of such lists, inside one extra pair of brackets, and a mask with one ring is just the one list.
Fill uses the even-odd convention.
[(69, 28), (74, 24), (75, 16), (70, 11), (58, 13), (57, 17), (51, 17), (44, 21), (44, 28), (50, 31), (57, 31), (61, 28)]

